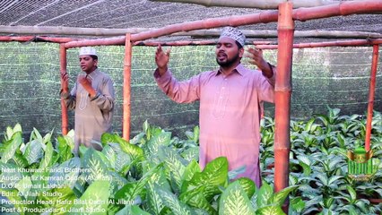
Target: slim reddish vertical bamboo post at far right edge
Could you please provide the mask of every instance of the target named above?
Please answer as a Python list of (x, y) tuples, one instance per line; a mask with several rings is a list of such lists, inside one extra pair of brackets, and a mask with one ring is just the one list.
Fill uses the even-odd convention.
[(371, 72), (369, 82), (369, 102), (368, 102), (368, 119), (366, 122), (365, 150), (370, 150), (371, 122), (373, 120), (374, 94), (376, 91), (376, 77), (378, 65), (379, 46), (373, 46), (373, 58), (371, 60)]

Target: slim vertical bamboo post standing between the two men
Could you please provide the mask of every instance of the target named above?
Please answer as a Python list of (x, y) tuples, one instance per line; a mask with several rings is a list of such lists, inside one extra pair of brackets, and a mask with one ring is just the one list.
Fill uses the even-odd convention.
[(124, 60), (124, 103), (123, 103), (123, 122), (122, 137), (130, 140), (130, 116), (131, 116), (131, 58), (133, 46), (131, 42), (131, 34), (126, 33), (125, 42), (125, 60)]

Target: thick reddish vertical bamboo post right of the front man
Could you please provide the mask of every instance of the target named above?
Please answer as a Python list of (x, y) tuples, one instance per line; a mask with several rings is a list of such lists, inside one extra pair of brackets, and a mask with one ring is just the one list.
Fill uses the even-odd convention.
[[(291, 17), (292, 4), (280, 4), (279, 48), (277, 54), (277, 75), (274, 89), (274, 192), (280, 192), (289, 185), (289, 153), (291, 150), (291, 64), (293, 55), (294, 22)], [(288, 204), (283, 207), (288, 212)]]

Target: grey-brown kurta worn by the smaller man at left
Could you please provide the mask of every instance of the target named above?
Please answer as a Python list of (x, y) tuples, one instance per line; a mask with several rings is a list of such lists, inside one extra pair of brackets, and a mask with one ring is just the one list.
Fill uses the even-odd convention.
[[(86, 75), (82, 73), (80, 75)], [(88, 91), (84, 90), (79, 82), (75, 82), (73, 90), (69, 93), (61, 93), (66, 107), (74, 110), (74, 154), (78, 153), (78, 147), (82, 143), (87, 147), (94, 147), (91, 141), (100, 142), (102, 133), (111, 132), (111, 123), (115, 102), (113, 82), (106, 73), (94, 70), (87, 75), (91, 80), (91, 86), (97, 91), (91, 98)], [(98, 148), (97, 150), (100, 150)]]

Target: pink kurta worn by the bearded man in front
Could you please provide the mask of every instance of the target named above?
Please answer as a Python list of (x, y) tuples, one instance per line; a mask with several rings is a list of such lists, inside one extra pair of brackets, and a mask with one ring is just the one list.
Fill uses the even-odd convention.
[(273, 102), (274, 77), (239, 64), (233, 73), (200, 73), (186, 82), (178, 82), (169, 71), (154, 77), (161, 90), (178, 103), (200, 100), (200, 152), (202, 168), (211, 160), (225, 156), (230, 170), (246, 166), (239, 175), (260, 185), (259, 142), (262, 101)]

